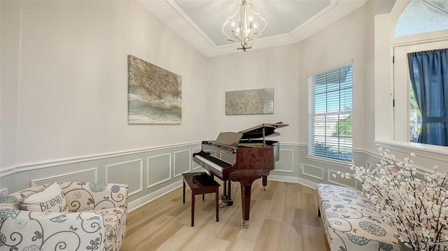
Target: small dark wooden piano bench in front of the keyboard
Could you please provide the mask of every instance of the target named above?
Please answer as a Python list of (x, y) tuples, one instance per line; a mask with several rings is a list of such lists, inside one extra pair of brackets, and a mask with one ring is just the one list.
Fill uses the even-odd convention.
[(195, 196), (202, 194), (204, 201), (204, 194), (215, 193), (216, 195), (216, 221), (219, 221), (219, 206), (218, 195), (219, 185), (214, 178), (205, 172), (200, 173), (183, 173), (183, 203), (185, 203), (185, 186), (186, 184), (191, 189), (191, 227), (195, 227)]

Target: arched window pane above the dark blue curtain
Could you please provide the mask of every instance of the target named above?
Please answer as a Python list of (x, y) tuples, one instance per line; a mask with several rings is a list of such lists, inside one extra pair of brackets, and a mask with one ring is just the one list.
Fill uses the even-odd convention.
[(395, 37), (448, 29), (447, 0), (412, 0), (398, 18)]

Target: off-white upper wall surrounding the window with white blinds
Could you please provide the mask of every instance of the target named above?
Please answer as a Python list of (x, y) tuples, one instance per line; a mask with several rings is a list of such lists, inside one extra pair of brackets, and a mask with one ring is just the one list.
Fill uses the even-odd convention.
[[(377, 2), (368, 1), (363, 8), (353, 11), (338, 22), (301, 43), (300, 106), (307, 107), (307, 78), (316, 73), (353, 64), (353, 148), (368, 149), (374, 139), (373, 107), (373, 13)], [(307, 110), (302, 110), (306, 117)], [(300, 139), (307, 143), (307, 127), (300, 131)]]

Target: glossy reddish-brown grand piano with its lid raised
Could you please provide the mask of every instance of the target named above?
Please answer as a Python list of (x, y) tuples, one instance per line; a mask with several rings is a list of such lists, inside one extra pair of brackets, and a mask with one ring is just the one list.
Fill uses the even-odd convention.
[(237, 181), (241, 185), (241, 205), (243, 223), (241, 227), (247, 229), (251, 210), (252, 183), (262, 178), (263, 188), (266, 189), (267, 175), (275, 168), (279, 160), (279, 142), (268, 141), (267, 136), (278, 136), (277, 128), (288, 124), (277, 122), (274, 124), (259, 124), (249, 129), (235, 132), (223, 132), (216, 141), (202, 141), (200, 152), (193, 154), (193, 160), (209, 171), (210, 175), (223, 180), (222, 203), (232, 206), (231, 182)]

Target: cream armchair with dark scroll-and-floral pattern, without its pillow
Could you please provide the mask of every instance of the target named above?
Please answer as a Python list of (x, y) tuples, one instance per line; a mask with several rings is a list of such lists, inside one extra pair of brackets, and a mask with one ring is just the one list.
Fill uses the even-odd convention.
[(65, 196), (66, 212), (22, 210), (23, 198), (48, 185), (0, 198), (0, 250), (119, 250), (126, 235), (127, 185), (55, 184)]

